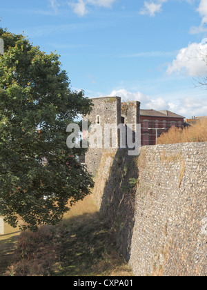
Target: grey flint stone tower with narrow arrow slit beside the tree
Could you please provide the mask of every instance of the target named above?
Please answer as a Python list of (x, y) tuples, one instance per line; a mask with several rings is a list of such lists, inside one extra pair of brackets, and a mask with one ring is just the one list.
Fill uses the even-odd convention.
[[(103, 145), (101, 148), (90, 148), (89, 144), (88, 152), (86, 153), (85, 163), (88, 171), (95, 175), (106, 144), (106, 142), (104, 143), (106, 141), (104, 139), (106, 137), (106, 135), (104, 136), (106, 126), (113, 125), (117, 128), (120, 124), (132, 124), (132, 131), (135, 134), (135, 125), (140, 123), (140, 103), (139, 101), (128, 101), (121, 104), (121, 97), (99, 97), (91, 100), (94, 106), (90, 115), (86, 116), (86, 119), (88, 119), (90, 124), (101, 127)], [(110, 148), (106, 150), (117, 150), (120, 146), (119, 129), (110, 131), (109, 135)], [(90, 133), (88, 133), (88, 137), (90, 137)], [(116, 144), (114, 143), (114, 137), (117, 139)]]

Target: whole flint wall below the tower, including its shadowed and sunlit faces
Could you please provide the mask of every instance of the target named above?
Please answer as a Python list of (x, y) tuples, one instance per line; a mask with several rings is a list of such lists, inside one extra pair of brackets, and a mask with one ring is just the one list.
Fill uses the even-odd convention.
[(95, 194), (135, 276), (207, 275), (207, 143), (103, 151)]

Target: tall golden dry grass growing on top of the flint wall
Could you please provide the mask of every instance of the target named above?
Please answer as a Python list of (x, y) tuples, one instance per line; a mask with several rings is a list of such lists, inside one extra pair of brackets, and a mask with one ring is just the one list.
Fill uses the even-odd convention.
[(207, 142), (207, 120), (197, 123), (189, 128), (172, 127), (167, 133), (163, 133), (157, 144), (175, 144), (188, 142)]

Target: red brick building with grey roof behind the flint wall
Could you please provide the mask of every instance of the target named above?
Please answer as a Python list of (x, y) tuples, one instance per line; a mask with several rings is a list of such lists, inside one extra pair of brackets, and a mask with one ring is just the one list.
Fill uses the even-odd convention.
[(182, 128), (184, 117), (169, 110), (140, 110), (141, 145), (155, 145), (156, 135), (167, 132), (172, 126)]

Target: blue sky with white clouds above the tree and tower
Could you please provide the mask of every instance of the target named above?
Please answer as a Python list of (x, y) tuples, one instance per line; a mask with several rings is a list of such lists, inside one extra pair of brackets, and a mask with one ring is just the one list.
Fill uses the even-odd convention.
[(73, 90), (207, 115), (207, 0), (9, 0), (1, 27), (61, 55)]

